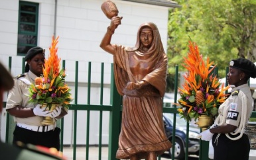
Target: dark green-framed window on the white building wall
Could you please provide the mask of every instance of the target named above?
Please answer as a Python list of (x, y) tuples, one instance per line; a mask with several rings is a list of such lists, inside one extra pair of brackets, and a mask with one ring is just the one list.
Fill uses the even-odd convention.
[(29, 49), (37, 46), (38, 3), (19, 2), (19, 26), (17, 53), (25, 56)]

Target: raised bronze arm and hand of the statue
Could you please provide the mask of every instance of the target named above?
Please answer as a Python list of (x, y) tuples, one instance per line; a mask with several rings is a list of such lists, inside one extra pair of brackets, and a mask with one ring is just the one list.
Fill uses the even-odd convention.
[(123, 19), (123, 17), (113, 17), (111, 19), (110, 26), (107, 27), (107, 32), (105, 33), (105, 36), (103, 36), (101, 44), (99, 45), (103, 50), (105, 50), (105, 52), (109, 52), (109, 54), (114, 54), (114, 48), (110, 42), (115, 29), (119, 24), (121, 24), (121, 19)]

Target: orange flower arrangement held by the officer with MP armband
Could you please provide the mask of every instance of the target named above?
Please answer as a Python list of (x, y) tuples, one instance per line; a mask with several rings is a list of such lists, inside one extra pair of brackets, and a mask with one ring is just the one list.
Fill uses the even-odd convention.
[(218, 108), (227, 95), (224, 92), (229, 87), (220, 87), (217, 75), (212, 73), (216, 65), (207, 58), (205, 62), (200, 55), (196, 43), (189, 42), (188, 56), (184, 58), (184, 66), (188, 72), (184, 75), (184, 89), (179, 88), (180, 99), (178, 99), (178, 113), (187, 122), (193, 118), (196, 120), (200, 115), (207, 115), (214, 118), (218, 113)]

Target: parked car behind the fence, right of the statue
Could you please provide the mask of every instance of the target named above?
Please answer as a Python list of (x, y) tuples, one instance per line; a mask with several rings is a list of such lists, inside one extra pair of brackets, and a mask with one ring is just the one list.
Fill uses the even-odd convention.
[[(173, 130), (173, 119), (174, 114), (164, 113), (163, 120), (164, 120), (164, 128), (165, 133), (168, 138), (172, 142), (172, 135)], [(186, 151), (186, 121), (181, 120), (180, 116), (176, 114), (176, 132), (175, 132), (175, 144), (172, 144), (174, 148), (174, 159), (184, 159), (185, 151)], [(189, 155), (199, 155), (199, 138), (198, 135), (200, 134), (200, 128), (195, 126), (190, 126), (189, 128), (189, 140), (188, 140), (188, 154)], [(172, 148), (169, 149), (168, 155), (172, 157)]]

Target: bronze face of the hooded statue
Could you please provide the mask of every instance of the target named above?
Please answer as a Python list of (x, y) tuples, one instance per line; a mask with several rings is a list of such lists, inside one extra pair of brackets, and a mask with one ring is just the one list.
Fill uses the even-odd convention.
[(141, 44), (144, 48), (150, 48), (153, 42), (153, 31), (151, 28), (143, 28), (140, 34)]

